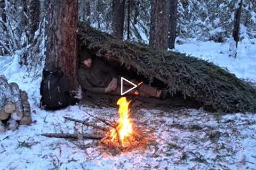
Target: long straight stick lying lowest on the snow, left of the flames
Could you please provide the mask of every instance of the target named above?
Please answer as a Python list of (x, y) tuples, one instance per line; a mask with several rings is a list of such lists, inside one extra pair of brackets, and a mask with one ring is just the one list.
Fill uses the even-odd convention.
[(101, 135), (93, 135), (93, 134), (86, 134), (86, 133), (79, 133), (79, 134), (70, 134), (70, 133), (44, 133), (41, 134), (44, 137), (49, 138), (68, 138), (68, 139), (102, 139), (103, 136)]

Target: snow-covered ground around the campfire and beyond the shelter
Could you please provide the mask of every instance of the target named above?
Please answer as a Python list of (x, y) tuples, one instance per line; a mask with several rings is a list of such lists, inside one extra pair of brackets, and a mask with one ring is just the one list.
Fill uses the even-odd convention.
[[(256, 81), (256, 40), (251, 41), (254, 44), (239, 44), (236, 59), (228, 57), (227, 44), (190, 41), (176, 47), (180, 52), (227, 67), (239, 78)], [(85, 111), (117, 119), (117, 110), (83, 105), (43, 111), (38, 107), (41, 79), (32, 81), (25, 75), (26, 69), (19, 68), (18, 61), (18, 55), (0, 57), (0, 74), (28, 92), (34, 123), (0, 134), (0, 169), (256, 169), (256, 116), (249, 113), (218, 115), (196, 109), (139, 109), (131, 116), (153, 130), (156, 143), (145, 151), (115, 156), (100, 151), (92, 140), (42, 137), (42, 133), (82, 130), (62, 116), (93, 121)]]

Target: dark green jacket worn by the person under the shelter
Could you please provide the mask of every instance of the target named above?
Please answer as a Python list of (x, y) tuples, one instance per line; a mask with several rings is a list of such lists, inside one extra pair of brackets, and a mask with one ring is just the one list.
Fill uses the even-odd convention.
[(93, 58), (91, 67), (81, 63), (77, 70), (77, 80), (81, 87), (94, 94), (104, 93), (104, 89), (113, 78), (117, 78), (114, 69), (99, 58)]

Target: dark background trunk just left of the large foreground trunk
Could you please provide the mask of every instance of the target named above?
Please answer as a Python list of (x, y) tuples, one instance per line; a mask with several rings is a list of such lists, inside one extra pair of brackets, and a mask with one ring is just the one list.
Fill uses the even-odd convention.
[(29, 43), (32, 43), (34, 40), (35, 32), (39, 26), (39, 16), (40, 16), (40, 4), (39, 0), (30, 0), (28, 7), (28, 17), (29, 17)]

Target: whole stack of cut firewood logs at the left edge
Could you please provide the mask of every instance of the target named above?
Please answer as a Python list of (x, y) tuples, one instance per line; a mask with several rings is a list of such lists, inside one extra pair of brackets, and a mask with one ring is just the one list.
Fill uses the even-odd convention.
[(0, 133), (32, 123), (28, 95), (0, 75)]

